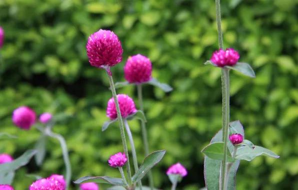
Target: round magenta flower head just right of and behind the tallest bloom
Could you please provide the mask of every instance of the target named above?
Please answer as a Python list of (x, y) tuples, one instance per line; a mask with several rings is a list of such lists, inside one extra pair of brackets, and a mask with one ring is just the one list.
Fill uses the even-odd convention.
[(152, 64), (148, 57), (137, 54), (129, 56), (124, 66), (124, 78), (130, 83), (146, 82), (152, 78)]

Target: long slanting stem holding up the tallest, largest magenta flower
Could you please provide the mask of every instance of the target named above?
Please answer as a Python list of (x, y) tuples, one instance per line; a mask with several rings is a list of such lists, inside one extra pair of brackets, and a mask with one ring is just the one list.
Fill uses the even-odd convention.
[(106, 71), (106, 75), (107, 75), (107, 78), (108, 78), (108, 82), (109, 82), (110, 89), (112, 91), (112, 95), (113, 95), (115, 106), (116, 106), (116, 111), (117, 111), (117, 116), (118, 116), (118, 121), (119, 121), (119, 128), (120, 128), (124, 153), (127, 156), (126, 169), (127, 169), (127, 174), (128, 174), (128, 185), (130, 186), (131, 185), (131, 171), (130, 171), (129, 156), (128, 156), (126, 138), (125, 138), (125, 133), (124, 133), (123, 121), (122, 121), (122, 117), (121, 117), (121, 113), (120, 113), (120, 108), (119, 108), (119, 103), (118, 103), (118, 99), (117, 99), (117, 94), (116, 94), (113, 78), (112, 78), (111, 75), (108, 74), (107, 71)]

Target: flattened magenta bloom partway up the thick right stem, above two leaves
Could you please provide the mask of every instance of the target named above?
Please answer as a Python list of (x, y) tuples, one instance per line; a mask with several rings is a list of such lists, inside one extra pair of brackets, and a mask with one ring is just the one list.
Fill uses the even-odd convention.
[(219, 49), (213, 52), (210, 61), (219, 67), (233, 66), (239, 60), (239, 53), (233, 48), (227, 48), (226, 50)]

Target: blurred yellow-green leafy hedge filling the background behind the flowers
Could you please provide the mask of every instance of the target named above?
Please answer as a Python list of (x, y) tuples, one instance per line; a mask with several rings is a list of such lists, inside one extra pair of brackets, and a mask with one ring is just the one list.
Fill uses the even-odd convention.
[[(230, 120), (239, 119), (247, 139), (280, 155), (241, 161), (236, 189), (298, 189), (298, 0), (222, 0), (221, 8), (224, 46), (237, 49), (256, 72), (249, 78), (231, 71)], [(152, 170), (156, 186), (169, 189), (165, 171), (175, 162), (189, 171), (178, 189), (204, 186), (200, 151), (221, 127), (220, 69), (203, 65), (218, 48), (213, 0), (0, 0), (0, 25), (0, 131), (18, 136), (1, 141), (1, 152), (17, 157), (33, 148), (37, 129), (11, 122), (12, 111), (28, 105), (38, 115), (73, 115), (53, 128), (66, 138), (72, 180), (120, 176), (107, 164), (122, 151), (118, 126), (101, 132), (108, 81), (104, 70), (90, 66), (85, 49), (91, 33), (110, 29), (124, 50), (111, 68), (114, 81), (124, 81), (127, 57), (141, 53), (152, 61), (153, 77), (174, 88), (143, 87), (150, 151), (167, 150)], [(133, 86), (117, 92), (136, 98)], [(129, 124), (141, 163), (140, 126)], [(27, 189), (33, 179), (26, 173), (63, 172), (59, 143), (51, 139), (42, 166), (32, 159), (17, 170), (13, 186)]]

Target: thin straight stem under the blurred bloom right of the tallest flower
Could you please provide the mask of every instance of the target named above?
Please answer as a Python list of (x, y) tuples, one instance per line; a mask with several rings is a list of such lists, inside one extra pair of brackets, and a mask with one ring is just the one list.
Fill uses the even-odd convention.
[[(141, 84), (136, 85), (136, 89), (137, 89), (137, 98), (138, 98), (139, 109), (142, 112), (144, 112)], [(146, 124), (143, 120), (141, 120), (141, 130), (142, 130), (142, 138), (143, 138), (143, 143), (144, 143), (145, 154), (147, 156), (147, 155), (149, 155), (149, 143), (148, 143), (148, 137), (147, 137)], [(148, 177), (149, 177), (150, 189), (153, 190), (154, 189), (154, 181), (153, 181), (153, 174), (152, 174), (151, 170), (148, 171)]]

